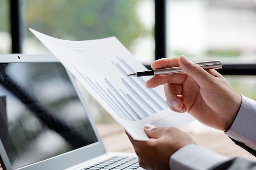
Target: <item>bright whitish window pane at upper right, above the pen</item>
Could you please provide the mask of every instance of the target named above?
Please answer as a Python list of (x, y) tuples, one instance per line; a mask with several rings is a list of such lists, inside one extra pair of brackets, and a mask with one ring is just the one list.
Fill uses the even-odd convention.
[(253, 0), (167, 0), (168, 56), (256, 62)]

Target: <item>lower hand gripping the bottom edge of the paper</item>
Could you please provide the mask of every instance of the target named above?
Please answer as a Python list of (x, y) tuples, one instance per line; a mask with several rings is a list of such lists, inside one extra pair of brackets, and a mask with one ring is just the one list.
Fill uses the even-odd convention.
[(127, 133), (139, 165), (147, 170), (169, 170), (169, 159), (174, 152), (188, 144), (195, 144), (193, 139), (177, 128), (158, 128), (146, 125), (144, 130), (148, 141), (135, 141)]

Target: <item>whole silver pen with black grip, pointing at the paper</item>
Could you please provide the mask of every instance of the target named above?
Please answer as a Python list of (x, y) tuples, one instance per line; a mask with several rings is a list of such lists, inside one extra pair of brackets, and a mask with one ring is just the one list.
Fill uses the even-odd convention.
[[(207, 61), (207, 62), (196, 62), (196, 64), (198, 64), (199, 66), (201, 66), (204, 69), (222, 68), (222, 62), (220, 60)], [(166, 75), (166, 74), (175, 74), (175, 73), (184, 73), (184, 71), (179, 66), (179, 67), (162, 68), (162, 69), (136, 72), (136, 73), (129, 74), (127, 76), (141, 77), (141, 76), (148, 76), (148, 75)]]

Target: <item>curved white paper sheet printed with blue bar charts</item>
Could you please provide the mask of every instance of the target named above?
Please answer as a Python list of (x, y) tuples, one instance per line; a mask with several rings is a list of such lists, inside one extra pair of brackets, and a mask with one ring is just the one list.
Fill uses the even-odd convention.
[(30, 29), (135, 140), (147, 140), (146, 124), (181, 127), (194, 118), (171, 111), (163, 86), (146, 88), (150, 77), (128, 77), (146, 71), (115, 37), (60, 40)]

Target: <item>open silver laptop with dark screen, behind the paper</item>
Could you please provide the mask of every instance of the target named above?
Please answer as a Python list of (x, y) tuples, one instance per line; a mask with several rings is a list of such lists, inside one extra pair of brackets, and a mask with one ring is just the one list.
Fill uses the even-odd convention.
[(4, 170), (143, 169), (133, 153), (106, 152), (74, 77), (51, 54), (0, 55), (0, 163)]

